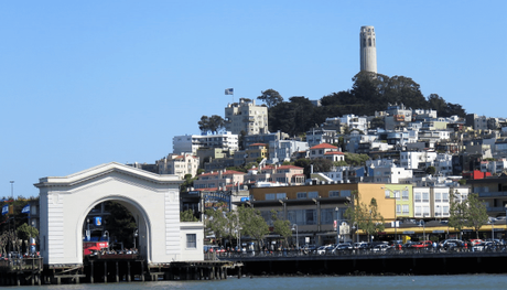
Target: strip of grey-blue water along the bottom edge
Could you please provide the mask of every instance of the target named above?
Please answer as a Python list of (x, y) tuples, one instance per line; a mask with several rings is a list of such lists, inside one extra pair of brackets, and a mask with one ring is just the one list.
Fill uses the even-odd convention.
[(95, 284), (62, 284), (41, 287), (12, 287), (15, 289), (506, 289), (506, 275), (455, 275), (455, 276), (367, 276), (367, 277), (269, 277), (233, 278), (222, 281), (158, 281)]

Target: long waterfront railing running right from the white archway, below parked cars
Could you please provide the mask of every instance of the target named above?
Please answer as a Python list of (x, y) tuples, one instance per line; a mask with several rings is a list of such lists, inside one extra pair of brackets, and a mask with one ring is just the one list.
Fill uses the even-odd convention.
[(362, 256), (400, 256), (400, 255), (443, 255), (443, 254), (471, 254), (481, 255), (484, 253), (506, 253), (507, 246), (490, 246), (483, 249), (468, 248), (468, 247), (427, 247), (427, 248), (387, 248), (387, 249), (346, 249), (334, 251), (317, 251), (317, 250), (266, 250), (266, 251), (225, 251), (225, 253), (207, 253), (213, 254), (208, 257), (216, 257), (216, 259), (227, 260), (248, 260), (248, 259), (278, 259), (278, 258), (305, 258), (305, 257), (362, 257)]

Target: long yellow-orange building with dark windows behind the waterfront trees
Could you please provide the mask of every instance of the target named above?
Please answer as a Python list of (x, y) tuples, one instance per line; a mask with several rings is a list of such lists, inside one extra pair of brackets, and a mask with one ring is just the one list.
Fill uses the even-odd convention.
[(250, 190), (250, 203), (261, 212), (268, 224), (274, 210), (281, 218), (295, 225), (298, 233), (294, 233), (294, 238), (298, 236), (299, 245), (335, 244), (338, 237), (342, 241), (353, 239), (353, 225), (341, 227), (339, 236), (334, 227), (335, 221), (338, 225), (347, 222), (344, 213), (353, 193), (359, 193), (365, 204), (376, 198), (379, 214), (386, 221), (395, 218), (395, 200), (386, 197), (384, 187), (385, 184), (378, 183), (255, 187)]

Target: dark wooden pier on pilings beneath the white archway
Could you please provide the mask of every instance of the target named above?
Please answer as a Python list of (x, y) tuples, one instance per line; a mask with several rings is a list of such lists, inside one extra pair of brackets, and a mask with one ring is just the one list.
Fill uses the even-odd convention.
[(241, 275), (241, 262), (224, 260), (147, 264), (137, 255), (103, 255), (83, 265), (44, 266), (42, 258), (0, 261), (0, 286), (223, 280)]

